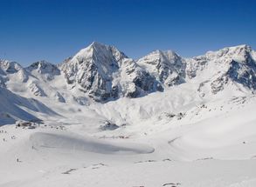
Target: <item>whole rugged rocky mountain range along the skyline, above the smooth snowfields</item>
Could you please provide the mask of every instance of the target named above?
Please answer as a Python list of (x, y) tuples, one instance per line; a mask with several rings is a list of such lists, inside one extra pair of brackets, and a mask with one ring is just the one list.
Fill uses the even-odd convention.
[(207, 99), (253, 93), (255, 62), (255, 51), (247, 45), (192, 58), (156, 50), (135, 61), (114, 46), (94, 42), (58, 65), (38, 61), (23, 68), (1, 60), (0, 85), (15, 95), (52, 104), (106, 103), (181, 86)]

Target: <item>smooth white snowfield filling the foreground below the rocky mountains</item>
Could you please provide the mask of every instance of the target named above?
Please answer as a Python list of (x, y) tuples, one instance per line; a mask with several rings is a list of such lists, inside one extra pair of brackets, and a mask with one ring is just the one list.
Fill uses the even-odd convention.
[[(163, 109), (169, 107), (164, 97), (163, 103), (155, 98)], [(145, 118), (142, 110), (149, 110), (151, 104), (145, 102), (145, 97), (134, 101), (140, 108), (134, 109), (135, 123), (116, 130), (95, 127), (108, 115), (114, 119), (118, 111), (120, 115), (131, 115), (131, 120), (135, 114), (127, 106), (132, 106), (133, 101), (95, 104), (87, 109), (93, 120), (87, 117), (88, 111), (81, 111), (85, 116), (80, 114), (75, 124), (70, 116), (75, 117), (76, 112), (70, 115), (68, 110), (66, 115), (62, 113), (67, 118), (63, 128), (63, 117), (45, 120), (36, 129), (2, 126), (1, 130), (7, 132), (0, 133), (5, 139), (0, 142), (0, 186), (256, 184), (255, 97), (218, 100), (197, 107), (184, 101), (176, 105), (179, 107), (170, 104), (176, 111), (185, 111), (182, 119), (153, 111), (151, 118)], [(115, 112), (109, 110), (111, 107)], [(95, 119), (100, 112), (102, 119)], [(162, 119), (154, 121), (156, 116)], [(123, 123), (124, 118), (116, 122)]]

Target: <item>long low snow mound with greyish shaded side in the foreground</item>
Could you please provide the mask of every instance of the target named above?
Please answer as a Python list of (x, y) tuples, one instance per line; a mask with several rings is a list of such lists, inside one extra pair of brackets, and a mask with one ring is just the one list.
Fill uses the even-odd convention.
[(148, 154), (154, 152), (144, 144), (117, 144), (93, 139), (93, 137), (80, 137), (70, 134), (53, 134), (37, 132), (30, 137), (31, 144), (38, 149), (62, 149), (73, 151), (88, 151), (100, 154)]

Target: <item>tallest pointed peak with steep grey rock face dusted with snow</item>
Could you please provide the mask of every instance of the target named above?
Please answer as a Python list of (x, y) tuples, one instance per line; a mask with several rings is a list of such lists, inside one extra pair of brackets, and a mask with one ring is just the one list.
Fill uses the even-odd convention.
[(96, 101), (139, 97), (157, 89), (155, 77), (113, 46), (92, 43), (60, 65), (66, 83)]

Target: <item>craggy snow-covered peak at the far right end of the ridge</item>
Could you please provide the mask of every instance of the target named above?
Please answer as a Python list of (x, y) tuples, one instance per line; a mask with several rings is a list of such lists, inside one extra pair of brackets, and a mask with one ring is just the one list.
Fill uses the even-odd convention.
[(247, 45), (209, 51), (204, 56), (186, 59), (186, 62), (187, 77), (201, 78), (201, 87), (210, 83), (213, 94), (234, 83), (255, 90), (255, 52)]

